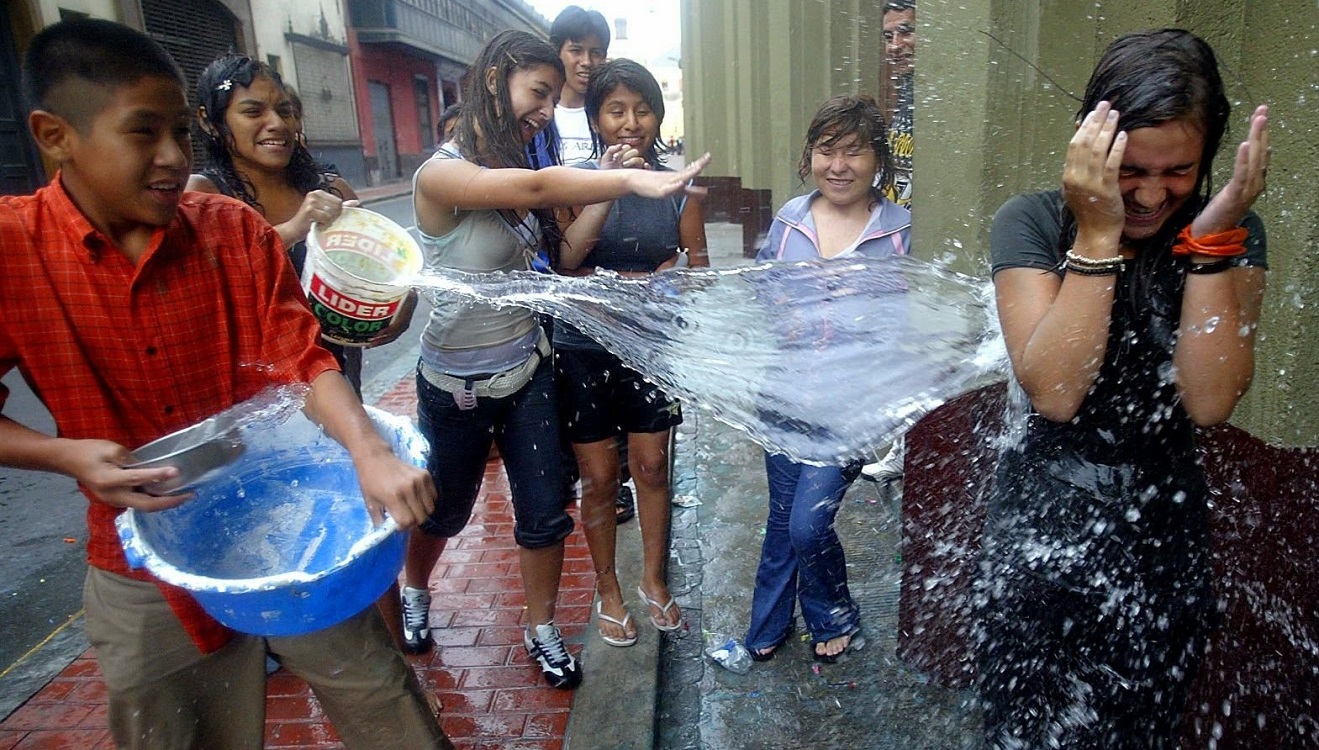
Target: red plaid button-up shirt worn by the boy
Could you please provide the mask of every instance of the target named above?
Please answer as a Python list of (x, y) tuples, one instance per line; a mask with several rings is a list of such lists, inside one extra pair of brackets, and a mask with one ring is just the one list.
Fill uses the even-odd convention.
[[(0, 198), (0, 376), (17, 366), (62, 438), (132, 449), (266, 385), (311, 382), (338, 369), (318, 340), (278, 235), (237, 200), (185, 194), (135, 266), (58, 175)], [(0, 385), (0, 407), (8, 395)], [(87, 562), (154, 581), (199, 649), (224, 645), (231, 634), (191, 596), (128, 568), (123, 510), (83, 494)]]

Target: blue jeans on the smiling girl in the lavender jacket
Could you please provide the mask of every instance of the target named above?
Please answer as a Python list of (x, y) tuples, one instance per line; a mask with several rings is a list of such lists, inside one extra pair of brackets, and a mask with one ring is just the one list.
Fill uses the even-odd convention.
[(855, 631), (861, 610), (847, 591), (847, 560), (834, 533), (843, 493), (860, 464), (813, 467), (765, 453), (769, 518), (756, 571), (747, 649), (778, 646), (791, 633), (794, 600), (811, 641), (820, 643)]

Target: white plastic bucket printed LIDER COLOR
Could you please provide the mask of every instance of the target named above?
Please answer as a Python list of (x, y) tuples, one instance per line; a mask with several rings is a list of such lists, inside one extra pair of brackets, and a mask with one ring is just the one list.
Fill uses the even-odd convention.
[(302, 289), (326, 339), (364, 347), (398, 315), (421, 268), (421, 248), (406, 229), (348, 207), (332, 224), (311, 225)]

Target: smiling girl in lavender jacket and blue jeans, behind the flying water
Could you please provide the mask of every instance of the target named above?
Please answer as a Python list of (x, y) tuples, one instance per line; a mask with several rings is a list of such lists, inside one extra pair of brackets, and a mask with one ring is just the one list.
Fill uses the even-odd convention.
[[(911, 214), (884, 198), (892, 181), (888, 129), (869, 96), (835, 96), (806, 132), (798, 170), (815, 181), (774, 217), (757, 260), (805, 261), (906, 254)], [(747, 650), (765, 662), (794, 629), (801, 601), (814, 658), (835, 662), (865, 645), (861, 612), (847, 588), (843, 546), (834, 533), (843, 493), (860, 464), (816, 467), (765, 453), (769, 518), (756, 572)]]

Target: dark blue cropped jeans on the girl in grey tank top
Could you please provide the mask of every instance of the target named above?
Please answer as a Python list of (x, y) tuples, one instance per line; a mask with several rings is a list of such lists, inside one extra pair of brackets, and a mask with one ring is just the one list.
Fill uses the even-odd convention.
[(563, 510), (559, 411), (549, 361), (513, 395), (480, 397), (471, 410), (458, 409), (452, 394), (417, 373), (417, 422), (430, 442), (426, 468), (439, 490), (422, 531), (447, 539), (467, 526), (493, 442), (508, 472), (517, 544), (539, 550), (572, 533), (572, 517)]

